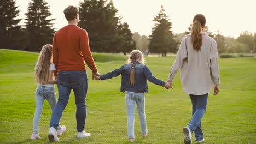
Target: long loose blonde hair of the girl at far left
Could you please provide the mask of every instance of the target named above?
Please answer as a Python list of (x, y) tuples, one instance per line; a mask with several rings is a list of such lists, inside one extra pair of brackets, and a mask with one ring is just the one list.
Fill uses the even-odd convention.
[(52, 61), (52, 45), (44, 45), (37, 60), (36, 66), (36, 83), (46, 85), (48, 83), (50, 64)]

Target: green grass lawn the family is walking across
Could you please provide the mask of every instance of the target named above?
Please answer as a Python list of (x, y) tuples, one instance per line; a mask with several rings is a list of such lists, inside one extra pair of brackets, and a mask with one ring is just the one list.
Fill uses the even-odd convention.
[[(95, 54), (101, 74), (119, 68), (127, 58)], [(40, 119), (42, 139), (29, 140), (37, 86), (33, 71), (37, 56), (38, 53), (0, 49), (0, 143), (48, 143), (51, 111), (47, 101)], [(113, 56), (118, 58), (110, 61)], [(147, 57), (146, 64), (156, 77), (166, 80), (174, 59)], [(256, 58), (219, 59), (219, 64), (220, 93), (210, 93), (202, 119), (204, 143), (256, 143)], [(59, 136), (60, 143), (129, 143), (125, 98), (124, 93), (119, 92), (121, 76), (95, 81), (91, 79), (91, 70), (88, 70), (88, 75), (86, 131), (91, 136), (75, 138), (77, 130), (72, 92), (61, 118), (61, 124), (66, 125), (67, 131)], [(136, 112), (136, 143), (183, 143), (182, 128), (191, 118), (191, 102), (188, 94), (182, 92), (179, 73), (174, 79), (174, 89), (166, 90), (150, 82), (148, 85), (146, 117), (149, 134), (146, 139), (142, 138)]]

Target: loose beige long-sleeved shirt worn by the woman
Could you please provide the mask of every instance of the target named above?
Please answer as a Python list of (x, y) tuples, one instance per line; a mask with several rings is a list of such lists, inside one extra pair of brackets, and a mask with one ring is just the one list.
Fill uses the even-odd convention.
[(220, 79), (216, 41), (202, 33), (201, 50), (195, 51), (191, 34), (185, 35), (170, 70), (169, 81), (173, 81), (179, 68), (184, 92), (194, 95), (209, 93), (214, 84), (219, 85)]

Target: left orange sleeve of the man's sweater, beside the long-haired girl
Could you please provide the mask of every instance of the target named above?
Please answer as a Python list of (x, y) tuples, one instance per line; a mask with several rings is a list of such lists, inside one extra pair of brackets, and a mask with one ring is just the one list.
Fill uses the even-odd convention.
[(54, 71), (54, 76), (55, 80), (57, 80), (57, 75), (58, 75), (58, 64), (59, 64), (59, 51), (57, 48), (57, 43), (56, 43), (56, 33), (54, 34), (53, 38), (53, 63), (55, 64), (55, 71)]

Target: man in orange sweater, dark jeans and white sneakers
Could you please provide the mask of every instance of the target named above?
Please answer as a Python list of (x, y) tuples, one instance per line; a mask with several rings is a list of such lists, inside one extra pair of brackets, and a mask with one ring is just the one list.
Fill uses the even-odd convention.
[(56, 67), (55, 79), (59, 89), (59, 100), (51, 115), (48, 138), (50, 142), (59, 141), (57, 126), (65, 107), (68, 104), (71, 89), (74, 91), (77, 105), (77, 137), (87, 137), (90, 133), (84, 131), (86, 119), (85, 98), (88, 89), (86, 66), (92, 70), (92, 75), (100, 75), (92, 58), (88, 34), (85, 29), (77, 26), (79, 21), (78, 8), (68, 6), (64, 10), (68, 25), (54, 34), (53, 62)]

